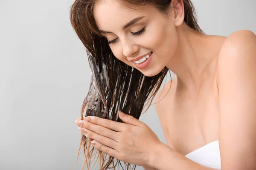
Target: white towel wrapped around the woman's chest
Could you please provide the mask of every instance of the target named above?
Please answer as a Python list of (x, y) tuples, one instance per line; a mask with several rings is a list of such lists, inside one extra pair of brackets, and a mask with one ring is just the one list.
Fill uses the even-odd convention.
[(221, 154), (218, 140), (206, 144), (185, 156), (198, 164), (221, 170)]

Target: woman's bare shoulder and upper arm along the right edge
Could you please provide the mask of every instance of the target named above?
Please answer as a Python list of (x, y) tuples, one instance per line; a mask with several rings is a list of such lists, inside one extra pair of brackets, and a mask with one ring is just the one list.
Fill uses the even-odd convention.
[(256, 36), (237, 31), (217, 63), (222, 170), (256, 169)]

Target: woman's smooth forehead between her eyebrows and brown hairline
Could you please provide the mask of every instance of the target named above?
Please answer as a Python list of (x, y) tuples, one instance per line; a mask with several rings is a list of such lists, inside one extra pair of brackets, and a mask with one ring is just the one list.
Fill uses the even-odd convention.
[(111, 31), (119, 29), (136, 17), (148, 16), (150, 6), (128, 8), (121, 0), (100, 0), (93, 8), (93, 16), (99, 29)]

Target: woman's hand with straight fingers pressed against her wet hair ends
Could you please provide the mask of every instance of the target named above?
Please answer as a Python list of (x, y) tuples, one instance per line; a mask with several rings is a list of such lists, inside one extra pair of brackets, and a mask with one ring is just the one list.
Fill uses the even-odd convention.
[(125, 123), (87, 116), (85, 120), (77, 119), (76, 124), (84, 136), (93, 139), (96, 149), (126, 163), (148, 165), (150, 156), (163, 143), (145, 123), (133, 116), (119, 111), (119, 118)]

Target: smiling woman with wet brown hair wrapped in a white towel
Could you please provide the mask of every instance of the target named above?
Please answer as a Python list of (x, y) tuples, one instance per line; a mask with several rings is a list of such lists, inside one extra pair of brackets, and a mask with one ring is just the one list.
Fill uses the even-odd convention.
[[(256, 169), (253, 32), (204, 34), (190, 0), (75, 0), (70, 20), (95, 80), (76, 120), (88, 167), (91, 142), (102, 170)], [(167, 145), (138, 120), (154, 96)]]

